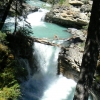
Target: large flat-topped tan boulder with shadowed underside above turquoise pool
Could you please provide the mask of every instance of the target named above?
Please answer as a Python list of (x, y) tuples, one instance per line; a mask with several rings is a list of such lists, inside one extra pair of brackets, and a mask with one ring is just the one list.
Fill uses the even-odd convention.
[(56, 6), (45, 16), (45, 21), (60, 24), (66, 27), (79, 28), (88, 25), (88, 16), (75, 7)]

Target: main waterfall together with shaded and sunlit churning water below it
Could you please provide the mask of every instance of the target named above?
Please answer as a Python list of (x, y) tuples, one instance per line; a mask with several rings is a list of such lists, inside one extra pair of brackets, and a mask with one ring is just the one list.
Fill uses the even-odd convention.
[(23, 95), (20, 100), (72, 100), (76, 83), (57, 75), (60, 49), (35, 43), (34, 50), (39, 71), (21, 85)]

